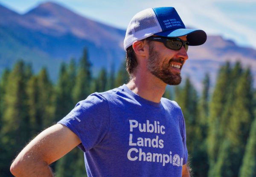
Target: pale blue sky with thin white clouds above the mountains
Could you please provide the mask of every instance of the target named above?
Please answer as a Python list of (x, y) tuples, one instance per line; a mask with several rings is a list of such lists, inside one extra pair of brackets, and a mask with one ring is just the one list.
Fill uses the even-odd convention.
[[(49, 1), (49, 0), (48, 0)], [(0, 0), (20, 14), (47, 0)], [(256, 0), (52, 0), (92, 20), (126, 29), (137, 12), (175, 7), (186, 26), (221, 35), (237, 45), (256, 49)]]

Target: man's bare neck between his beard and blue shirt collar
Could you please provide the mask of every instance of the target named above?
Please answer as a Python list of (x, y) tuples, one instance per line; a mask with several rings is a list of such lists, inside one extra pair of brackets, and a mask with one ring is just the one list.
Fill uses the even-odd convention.
[(146, 100), (160, 103), (165, 92), (166, 85), (166, 83), (163, 83), (162, 80), (151, 73), (148, 75), (140, 75), (137, 73), (136, 76), (134, 76), (127, 84), (127, 87), (135, 94), (140, 95), (140, 97), (143, 97)]

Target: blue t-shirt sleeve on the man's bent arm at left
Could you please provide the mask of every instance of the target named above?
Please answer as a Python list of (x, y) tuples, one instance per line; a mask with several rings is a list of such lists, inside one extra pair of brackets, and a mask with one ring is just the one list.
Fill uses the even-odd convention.
[(70, 128), (81, 140), (79, 148), (88, 151), (99, 144), (108, 132), (108, 102), (98, 93), (91, 94), (58, 123)]

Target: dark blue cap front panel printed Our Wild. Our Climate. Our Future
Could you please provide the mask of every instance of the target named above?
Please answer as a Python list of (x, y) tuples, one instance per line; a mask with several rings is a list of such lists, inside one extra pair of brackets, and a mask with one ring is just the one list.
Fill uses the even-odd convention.
[(163, 31), (184, 29), (185, 25), (173, 7), (153, 8)]

